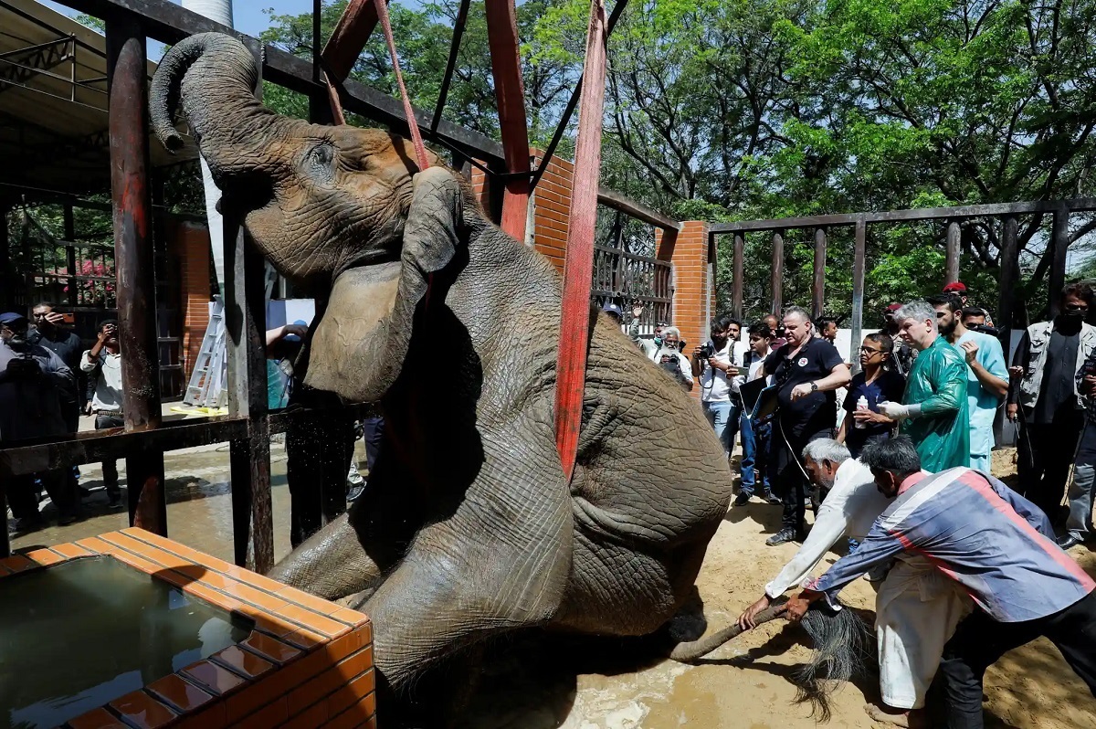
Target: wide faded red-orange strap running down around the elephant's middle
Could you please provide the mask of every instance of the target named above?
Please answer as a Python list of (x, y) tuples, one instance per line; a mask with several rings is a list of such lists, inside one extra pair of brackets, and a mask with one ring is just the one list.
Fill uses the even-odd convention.
[(556, 358), (556, 448), (568, 482), (574, 472), (579, 449), (582, 392), (586, 381), (590, 283), (594, 273), (594, 223), (597, 217), (597, 178), (602, 167), (606, 39), (605, 2), (593, 0), (586, 29), (579, 140), (574, 150), (574, 182), (563, 264), (559, 353)]

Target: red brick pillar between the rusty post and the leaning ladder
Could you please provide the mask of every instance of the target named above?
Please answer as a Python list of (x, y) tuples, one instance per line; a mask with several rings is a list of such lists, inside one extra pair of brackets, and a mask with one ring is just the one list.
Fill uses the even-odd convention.
[(183, 321), (183, 381), (189, 383), (202, 338), (209, 324), (209, 231), (199, 223), (174, 221), (168, 230), (169, 244), (179, 251), (180, 306)]

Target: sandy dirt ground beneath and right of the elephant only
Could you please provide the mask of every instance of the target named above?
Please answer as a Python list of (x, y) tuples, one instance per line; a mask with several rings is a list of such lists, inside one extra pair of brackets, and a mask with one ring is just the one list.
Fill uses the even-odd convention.
[[(994, 472), (1015, 472), (1012, 451), (995, 454)], [(766, 547), (779, 523), (779, 506), (753, 501), (732, 509), (708, 547), (697, 579), (709, 631), (718, 630), (761, 596), (764, 584), (791, 558), (797, 545)], [(810, 514), (808, 513), (808, 517)], [(1096, 574), (1096, 554), (1071, 553)], [(830, 555), (832, 563), (837, 555)], [(820, 566), (819, 572), (823, 568)], [(875, 591), (857, 580), (843, 593), (871, 611)], [(871, 613), (874, 615), (874, 613)], [(820, 726), (810, 707), (796, 705), (790, 675), (809, 660), (799, 628), (774, 622), (712, 652), (699, 665), (652, 661), (627, 641), (529, 639), (484, 676), (473, 699), (473, 729), (806, 729)], [(576, 673), (578, 670), (578, 673)], [(1046, 639), (1006, 654), (986, 675), (986, 726), (998, 729), (1094, 729), (1096, 699)], [(846, 684), (832, 699), (834, 729), (886, 725), (864, 711), (878, 700), (878, 685)]]

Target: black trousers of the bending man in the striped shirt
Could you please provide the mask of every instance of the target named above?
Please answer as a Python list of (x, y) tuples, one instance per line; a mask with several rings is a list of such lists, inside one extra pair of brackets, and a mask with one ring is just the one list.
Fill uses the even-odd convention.
[(1040, 636), (1054, 643), (1096, 696), (1096, 592), (1053, 615), (1024, 623), (998, 623), (975, 608), (944, 647), (937, 674), (944, 684), (948, 729), (981, 729), (985, 670)]

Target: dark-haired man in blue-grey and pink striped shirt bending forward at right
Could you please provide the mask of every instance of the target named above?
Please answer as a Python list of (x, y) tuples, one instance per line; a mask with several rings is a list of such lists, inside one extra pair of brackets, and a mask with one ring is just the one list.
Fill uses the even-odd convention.
[(867, 539), (788, 602), (799, 619), (820, 597), (902, 553), (958, 582), (975, 610), (944, 648), (949, 729), (982, 727), (982, 677), (1007, 651), (1047, 636), (1096, 695), (1096, 582), (1054, 542), (1047, 516), (997, 479), (970, 468), (921, 470), (901, 436), (864, 449), (876, 487), (894, 502)]

